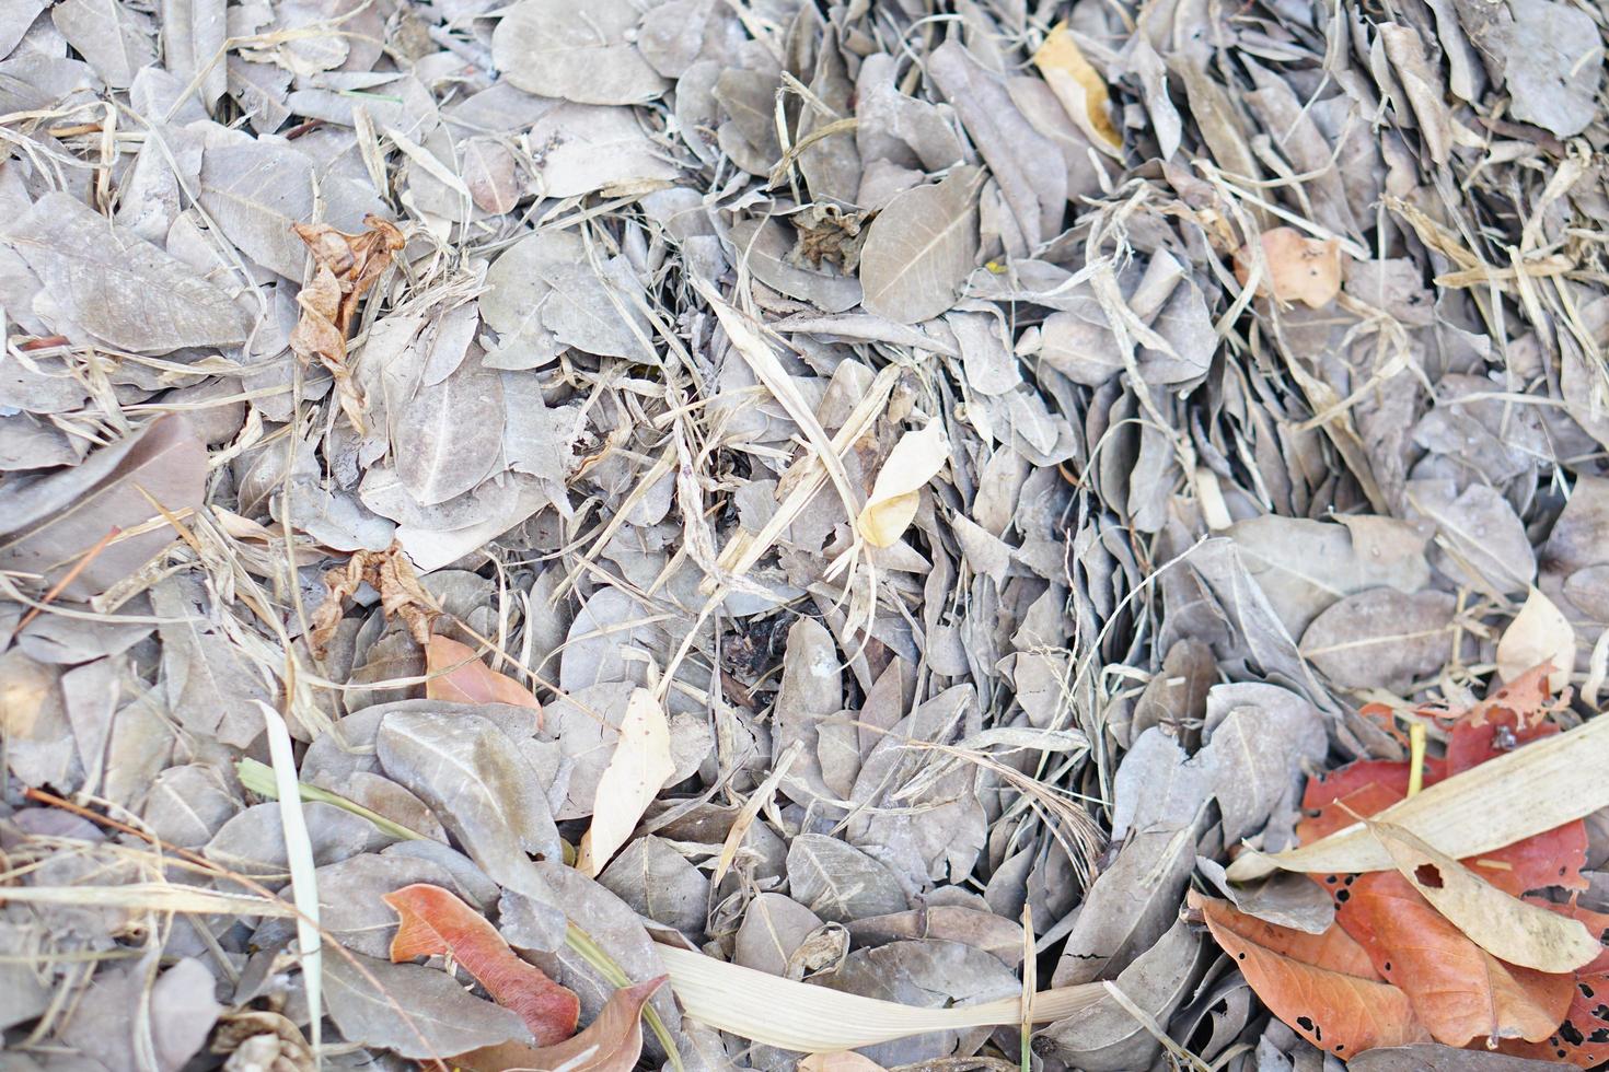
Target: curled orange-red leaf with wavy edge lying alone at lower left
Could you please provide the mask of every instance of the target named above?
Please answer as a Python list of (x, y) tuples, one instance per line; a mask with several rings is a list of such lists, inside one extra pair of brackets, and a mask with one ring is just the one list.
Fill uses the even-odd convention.
[(391, 959), (452, 953), (492, 1000), (515, 1013), (547, 1046), (574, 1035), (581, 1001), (574, 992), (549, 979), (541, 968), (515, 956), (497, 927), (479, 913), (428, 882), (386, 894), (401, 921), (391, 939)]

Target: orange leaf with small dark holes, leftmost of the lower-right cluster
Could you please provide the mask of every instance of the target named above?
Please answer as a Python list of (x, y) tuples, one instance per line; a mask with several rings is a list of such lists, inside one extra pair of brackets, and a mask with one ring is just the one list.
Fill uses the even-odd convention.
[[(1263, 1004), (1326, 1053), (1345, 1059), (1376, 1046), (1430, 1041), (1430, 1033), (1414, 1017), (1408, 995), (1397, 987), (1319, 968), (1263, 945), (1250, 935), (1278, 934), (1286, 927), (1249, 923), (1229, 902), (1191, 890), (1189, 905), (1200, 910), (1213, 940), (1234, 956), (1236, 966)], [(1290, 950), (1310, 945), (1292, 934), (1281, 934), (1276, 945)], [(1334, 956), (1337, 963), (1356, 963), (1355, 955), (1344, 950), (1347, 945), (1337, 939), (1311, 942), (1311, 951)]]

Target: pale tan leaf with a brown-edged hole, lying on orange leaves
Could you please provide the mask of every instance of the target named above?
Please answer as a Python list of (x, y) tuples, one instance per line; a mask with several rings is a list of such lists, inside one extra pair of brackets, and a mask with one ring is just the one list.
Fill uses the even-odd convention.
[(1369, 831), (1419, 895), (1498, 959), (1543, 972), (1567, 972), (1603, 951), (1598, 939), (1575, 919), (1504, 894), (1403, 828), (1369, 823)]

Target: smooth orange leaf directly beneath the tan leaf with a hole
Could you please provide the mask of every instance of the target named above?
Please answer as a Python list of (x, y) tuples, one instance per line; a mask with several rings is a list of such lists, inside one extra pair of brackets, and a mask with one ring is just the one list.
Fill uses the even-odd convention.
[(1450, 1046), (1472, 1038), (1546, 1038), (1570, 1004), (1574, 976), (1500, 961), (1395, 871), (1358, 879), (1335, 921), (1401, 987), (1437, 1041)]

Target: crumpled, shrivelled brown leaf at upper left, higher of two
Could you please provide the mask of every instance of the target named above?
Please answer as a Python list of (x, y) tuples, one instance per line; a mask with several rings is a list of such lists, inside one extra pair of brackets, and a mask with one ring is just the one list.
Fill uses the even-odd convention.
[(364, 217), (364, 223), (368, 230), (362, 235), (346, 235), (328, 223), (293, 225), (312, 254), (314, 276), (296, 296), (302, 315), (291, 333), (291, 350), (302, 362), (317, 358), (330, 370), (341, 410), (359, 432), (364, 431), (364, 395), (346, 362), (346, 336), (357, 302), (405, 244), (394, 223), (377, 215)]

